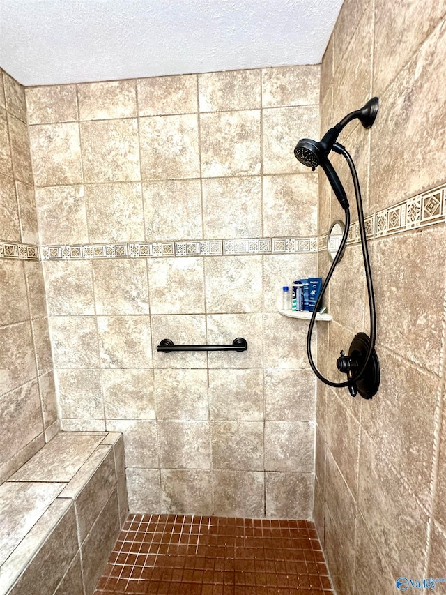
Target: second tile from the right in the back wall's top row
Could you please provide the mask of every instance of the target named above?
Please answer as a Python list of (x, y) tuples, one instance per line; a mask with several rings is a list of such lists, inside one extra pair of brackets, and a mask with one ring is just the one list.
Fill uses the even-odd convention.
[(261, 70), (228, 70), (198, 75), (200, 112), (261, 107)]

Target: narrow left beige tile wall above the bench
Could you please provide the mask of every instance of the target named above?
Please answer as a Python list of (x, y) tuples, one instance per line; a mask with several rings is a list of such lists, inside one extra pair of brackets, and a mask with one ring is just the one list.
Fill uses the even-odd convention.
[(0, 483), (59, 429), (26, 126), (0, 70)]

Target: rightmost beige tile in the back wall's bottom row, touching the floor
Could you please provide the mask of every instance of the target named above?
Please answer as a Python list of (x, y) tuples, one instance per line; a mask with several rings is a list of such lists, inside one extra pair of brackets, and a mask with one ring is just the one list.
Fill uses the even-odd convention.
[(266, 517), (312, 519), (312, 473), (265, 474)]

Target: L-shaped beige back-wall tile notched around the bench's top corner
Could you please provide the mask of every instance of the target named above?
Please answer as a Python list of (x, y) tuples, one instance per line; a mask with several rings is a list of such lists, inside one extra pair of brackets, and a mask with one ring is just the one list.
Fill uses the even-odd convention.
[[(107, 420), (107, 432), (123, 432), (126, 467), (146, 469), (157, 469), (159, 467), (155, 421), (141, 419)], [(131, 499), (131, 493), (130, 486), (129, 499)]]

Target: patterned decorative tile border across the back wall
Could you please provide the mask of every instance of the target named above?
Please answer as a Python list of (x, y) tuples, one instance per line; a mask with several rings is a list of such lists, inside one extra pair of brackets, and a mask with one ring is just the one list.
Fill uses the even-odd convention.
[(313, 237), (42, 246), (40, 251), (43, 260), (83, 260), (95, 258), (296, 254), (316, 252), (317, 249), (318, 239)]

